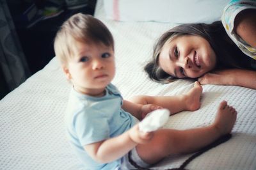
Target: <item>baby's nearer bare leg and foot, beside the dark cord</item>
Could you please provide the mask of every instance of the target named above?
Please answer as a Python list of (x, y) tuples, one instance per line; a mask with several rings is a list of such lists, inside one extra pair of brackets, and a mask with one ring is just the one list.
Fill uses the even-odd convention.
[(191, 153), (207, 146), (221, 135), (230, 133), (234, 127), (236, 116), (236, 110), (223, 101), (211, 125), (189, 130), (157, 130), (149, 143), (138, 144), (136, 150), (148, 164), (159, 162), (168, 155)]

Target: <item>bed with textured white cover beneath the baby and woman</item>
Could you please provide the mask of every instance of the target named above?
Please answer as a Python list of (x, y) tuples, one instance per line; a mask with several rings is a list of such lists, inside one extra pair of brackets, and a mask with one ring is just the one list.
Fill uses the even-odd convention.
[[(124, 98), (134, 95), (179, 95), (193, 81), (158, 84), (148, 79), (143, 66), (151, 58), (156, 38), (177, 25), (110, 19), (103, 0), (95, 17), (115, 38), (116, 76), (113, 80)], [(232, 137), (196, 157), (186, 169), (256, 169), (256, 90), (238, 86), (203, 86), (198, 111), (170, 116), (166, 128), (186, 129), (211, 123), (222, 100), (237, 109)], [(70, 84), (56, 58), (0, 101), (0, 169), (84, 169), (65, 138), (63, 113)], [(191, 157), (173, 155), (150, 169), (172, 169)], [(86, 169), (86, 168), (85, 168)]]

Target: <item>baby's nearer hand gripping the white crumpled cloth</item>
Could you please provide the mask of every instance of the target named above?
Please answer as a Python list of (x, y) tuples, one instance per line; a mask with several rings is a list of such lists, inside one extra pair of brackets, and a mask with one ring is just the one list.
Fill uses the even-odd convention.
[(129, 135), (134, 143), (143, 144), (152, 139), (154, 132), (142, 132), (139, 130), (139, 124), (136, 124), (129, 130)]

